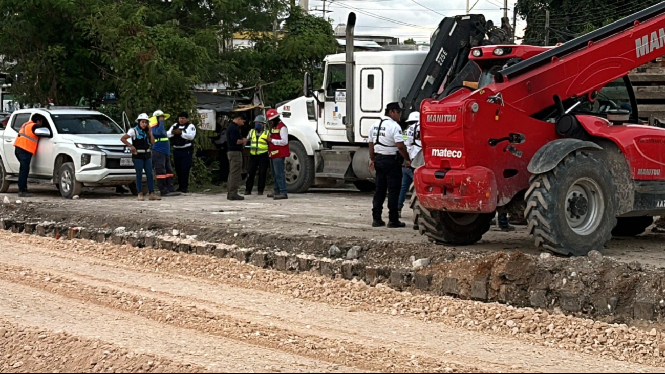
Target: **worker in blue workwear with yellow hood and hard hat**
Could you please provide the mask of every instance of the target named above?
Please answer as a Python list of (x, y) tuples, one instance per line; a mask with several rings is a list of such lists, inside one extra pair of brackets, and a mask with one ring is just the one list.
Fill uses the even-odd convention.
[(173, 187), (173, 168), (171, 167), (171, 143), (166, 134), (164, 122), (170, 118), (170, 114), (164, 114), (156, 110), (150, 118), (150, 128), (155, 144), (152, 146), (152, 164), (155, 167), (157, 185), (162, 197), (179, 196)]

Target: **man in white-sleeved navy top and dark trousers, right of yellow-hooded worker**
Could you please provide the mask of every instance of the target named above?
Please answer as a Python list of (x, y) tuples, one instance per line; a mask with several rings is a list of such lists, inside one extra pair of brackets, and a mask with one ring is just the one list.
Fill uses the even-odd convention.
[(187, 112), (180, 112), (178, 122), (171, 126), (167, 134), (173, 146), (173, 163), (178, 175), (176, 191), (190, 193), (190, 171), (194, 162), (196, 126), (190, 124), (190, 115)]

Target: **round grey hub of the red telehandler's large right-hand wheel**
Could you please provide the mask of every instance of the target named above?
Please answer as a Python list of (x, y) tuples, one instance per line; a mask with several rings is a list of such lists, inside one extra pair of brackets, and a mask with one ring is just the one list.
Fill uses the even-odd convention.
[(604, 197), (596, 181), (580, 178), (568, 190), (565, 217), (569, 227), (580, 235), (592, 234), (600, 226)]

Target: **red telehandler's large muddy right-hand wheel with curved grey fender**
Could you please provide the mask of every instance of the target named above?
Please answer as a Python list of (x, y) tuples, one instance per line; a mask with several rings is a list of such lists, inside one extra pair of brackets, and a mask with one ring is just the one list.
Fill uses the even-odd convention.
[(571, 153), (552, 171), (533, 175), (525, 199), (524, 215), (536, 246), (585, 256), (612, 238), (616, 185), (605, 164), (590, 153)]

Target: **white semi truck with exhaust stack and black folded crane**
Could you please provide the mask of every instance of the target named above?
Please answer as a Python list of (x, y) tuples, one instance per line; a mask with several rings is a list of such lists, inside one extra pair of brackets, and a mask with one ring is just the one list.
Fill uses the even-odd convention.
[(289, 130), (289, 193), (344, 181), (352, 181), (360, 191), (372, 191), (367, 135), (386, 104), (402, 102), (406, 118), (424, 98), (442, 94), (446, 82), (466, 65), (471, 47), (499, 44), (509, 34), (485, 22), (482, 15), (448, 17), (432, 36), (429, 53), (354, 52), (354, 25), (355, 14), (350, 13), (346, 53), (325, 58), (323, 86), (315, 89), (312, 74), (307, 73), (303, 96), (277, 108)]

